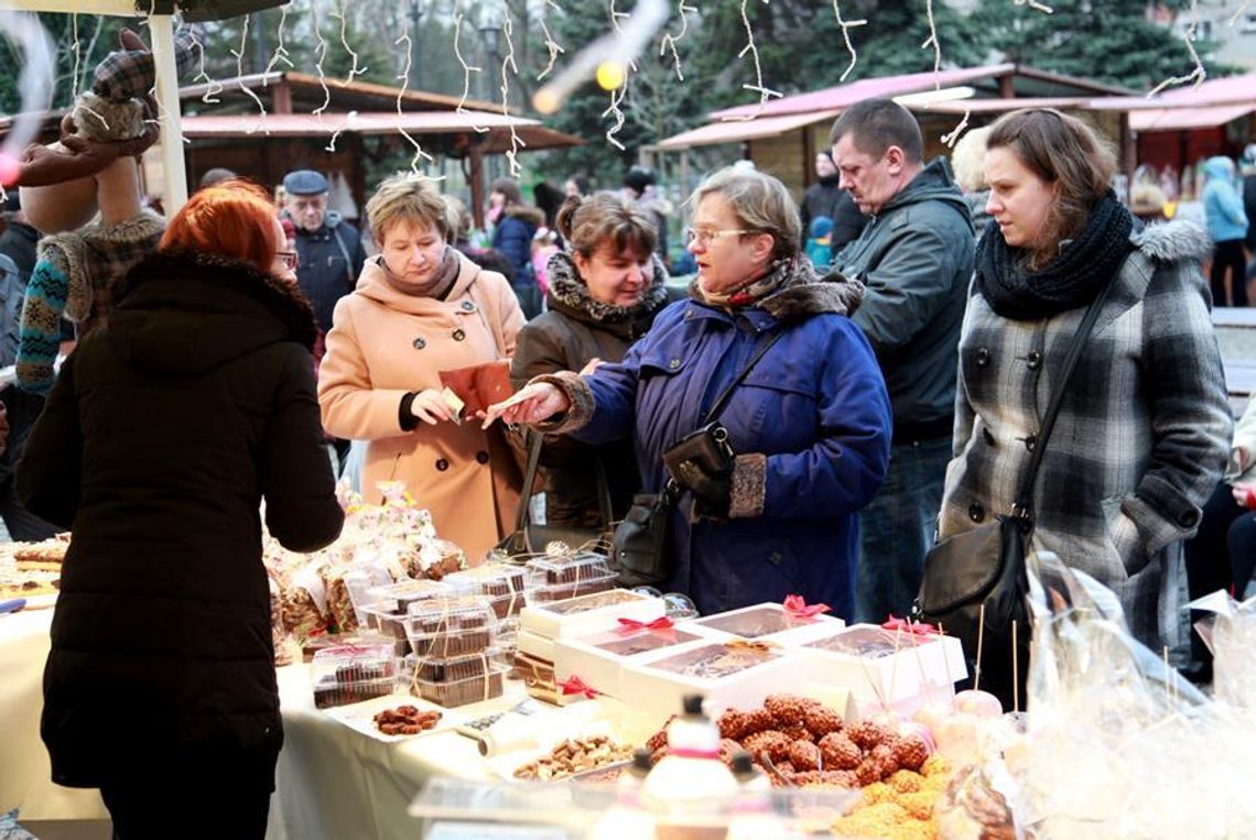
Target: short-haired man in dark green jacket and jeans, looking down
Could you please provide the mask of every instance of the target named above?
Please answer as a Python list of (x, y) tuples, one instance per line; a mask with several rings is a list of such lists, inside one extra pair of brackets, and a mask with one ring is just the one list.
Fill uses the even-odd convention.
[(829, 133), (842, 186), (870, 216), (836, 267), (867, 285), (858, 324), (894, 409), (889, 472), (860, 515), (857, 618), (884, 622), (912, 605), (933, 544), (955, 424), (956, 353), (975, 242), (945, 159), (923, 162), (916, 118), (865, 99)]

